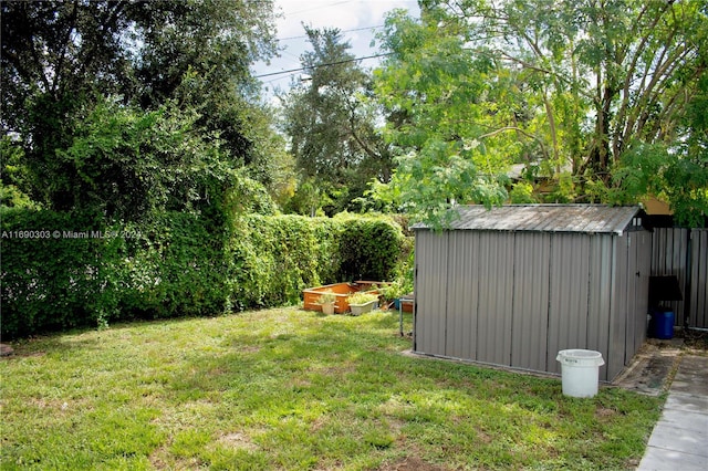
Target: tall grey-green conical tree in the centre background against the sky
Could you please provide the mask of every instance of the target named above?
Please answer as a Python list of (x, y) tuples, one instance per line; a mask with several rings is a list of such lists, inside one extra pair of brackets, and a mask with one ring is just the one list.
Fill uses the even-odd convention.
[[(284, 98), (284, 132), (310, 193), (330, 193), (345, 209), (372, 178), (388, 181), (392, 157), (377, 133), (369, 75), (337, 29), (305, 27), (312, 51), (301, 56), (306, 80)], [(311, 205), (309, 205), (311, 206)]]

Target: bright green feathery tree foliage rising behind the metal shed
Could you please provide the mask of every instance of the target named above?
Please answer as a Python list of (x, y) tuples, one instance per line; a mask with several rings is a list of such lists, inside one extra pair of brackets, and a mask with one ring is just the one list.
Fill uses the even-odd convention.
[[(376, 73), (399, 116), (388, 125), (400, 147), (389, 195), (423, 217), (454, 201), (503, 200), (512, 164), (551, 178), (553, 191), (534, 198), (552, 201), (628, 195), (618, 169), (646, 146), (675, 156), (662, 164), (666, 175), (688, 161), (708, 171), (705, 151), (683, 144), (701, 133), (686, 122), (691, 106), (705, 106), (701, 2), (426, 0), (421, 10), (419, 21), (389, 17), (392, 55)], [(696, 205), (670, 202), (705, 216), (701, 200), (699, 186)]]

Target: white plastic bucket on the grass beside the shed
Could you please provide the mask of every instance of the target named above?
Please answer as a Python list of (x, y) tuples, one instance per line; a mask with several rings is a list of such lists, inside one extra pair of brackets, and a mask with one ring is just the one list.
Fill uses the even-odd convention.
[(605, 364), (600, 352), (560, 350), (555, 359), (561, 362), (563, 395), (593, 397), (597, 394), (600, 367)]

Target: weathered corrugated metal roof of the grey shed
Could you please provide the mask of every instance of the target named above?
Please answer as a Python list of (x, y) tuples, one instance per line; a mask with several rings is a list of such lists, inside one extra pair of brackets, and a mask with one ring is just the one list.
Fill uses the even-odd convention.
[[(580, 232), (622, 234), (639, 212), (636, 206), (509, 205), (487, 209), (459, 206), (451, 230)], [(416, 224), (414, 229), (425, 229)]]

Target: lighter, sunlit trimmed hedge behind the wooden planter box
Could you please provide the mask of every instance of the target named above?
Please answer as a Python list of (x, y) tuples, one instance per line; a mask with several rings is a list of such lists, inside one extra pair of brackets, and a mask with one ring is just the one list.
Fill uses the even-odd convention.
[(391, 280), (404, 242), (383, 217), (246, 217), (231, 242), (233, 306), (292, 303), (308, 286), (339, 281)]

